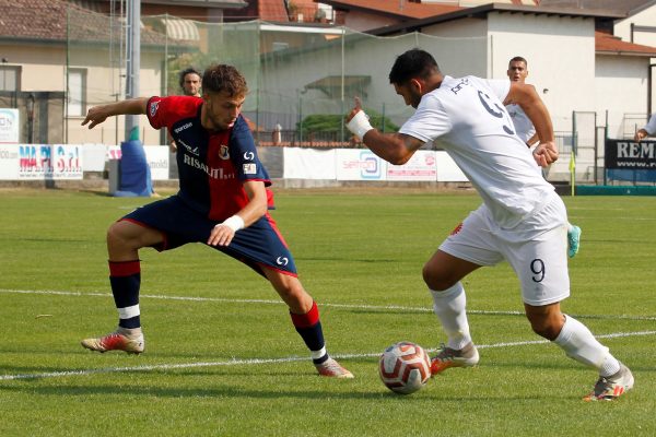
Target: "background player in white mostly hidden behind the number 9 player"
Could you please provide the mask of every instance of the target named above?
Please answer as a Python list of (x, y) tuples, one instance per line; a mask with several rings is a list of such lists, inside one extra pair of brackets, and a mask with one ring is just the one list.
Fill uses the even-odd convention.
[[(508, 78), (513, 82), (525, 83), (528, 76), (528, 62), (520, 56), (516, 56), (508, 62)], [(534, 147), (538, 142), (538, 134), (532, 122), (526, 116), (526, 113), (522, 110), (522, 107), (515, 103), (506, 105), (506, 109), (513, 119), (513, 126), (515, 127), (515, 133), (522, 141), (526, 143), (528, 147)], [(542, 167), (542, 176), (547, 179), (549, 167)], [(581, 246), (581, 227), (573, 225), (567, 222), (567, 255), (570, 258), (574, 258), (578, 253)]]

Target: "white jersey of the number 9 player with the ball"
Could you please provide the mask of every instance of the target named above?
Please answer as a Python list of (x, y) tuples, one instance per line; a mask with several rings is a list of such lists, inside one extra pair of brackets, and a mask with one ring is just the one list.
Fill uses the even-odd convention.
[(465, 173), (502, 228), (512, 228), (554, 196), (503, 105), (508, 80), (445, 76), (425, 94), (401, 133), (440, 144)]

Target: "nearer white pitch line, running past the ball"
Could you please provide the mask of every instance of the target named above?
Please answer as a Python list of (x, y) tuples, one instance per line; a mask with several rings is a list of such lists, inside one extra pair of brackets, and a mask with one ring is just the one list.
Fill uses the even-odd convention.
[[(616, 339), (625, 336), (639, 336), (639, 335), (655, 335), (656, 331), (639, 331), (639, 332), (616, 332), (610, 334), (597, 335), (597, 339)], [(532, 340), (522, 342), (509, 342), (509, 343), (495, 343), (495, 344), (477, 344), (478, 349), (494, 349), (494, 347), (515, 347), (515, 346), (527, 346), (535, 344), (550, 343), (548, 340)], [(426, 349), (426, 352), (433, 353), (437, 349)], [(380, 356), (380, 352), (368, 353), (368, 354), (335, 354), (336, 358), (372, 358)], [(198, 367), (220, 367), (220, 366), (248, 366), (257, 364), (280, 364), (280, 363), (293, 363), (293, 362), (305, 362), (307, 357), (290, 356), (286, 358), (253, 358), (253, 359), (236, 359), (225, 362), (203, 362), (203, 363), (180, 363), (180, 364), (155, 364), (150, 366), (132, 366), (132, 367), (105, 367), (98, 369), (84, 369), (84, 370), (61, 370), (61, 371), (46, 371), (42, 374), (17, 374), (17, 375), (0, 375), (0, 381), (10, 381), (19, 379), (43, 379), (43, 378), (59, 378), (67, 376), (87, 376), (98, 374), (118, 374), (129, 371), (150, 371), (150, 370), (175, 370), (175, 369), (188, 369)]]

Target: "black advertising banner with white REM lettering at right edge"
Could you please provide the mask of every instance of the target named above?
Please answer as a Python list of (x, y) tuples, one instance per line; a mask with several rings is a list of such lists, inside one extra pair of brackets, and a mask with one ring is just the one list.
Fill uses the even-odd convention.
[(656, 141), (606, 140), (606, 169), (656, 170)]

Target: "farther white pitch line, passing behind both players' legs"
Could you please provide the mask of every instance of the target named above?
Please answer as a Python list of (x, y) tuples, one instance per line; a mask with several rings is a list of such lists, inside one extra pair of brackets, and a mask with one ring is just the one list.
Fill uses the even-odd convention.
[[(61, 292), (54, 290), (5, 290), (0, 288), (0, 293), (16, 293), (16, 294), (46, 294), (46, 295), (59, 295), (59, 296), (94, 296), (94, 297), (112, 297), (110, 293), (101, 292)], [(187, 302), (221, 302), (227, 304), (268, 304), (268, 305), (284, 305), (279, 299), (235, 299), (226, 297), (197, 297), (197, 296), (165, 296), (156, 294), (140, 294), (140, 297), (148, 297), (151, 299), (162, 300), (187, 300)], [(366, 305), (366, 304), (329, 304), (319, 303), (321, 307), (331, 308), (347, 308), (347, 309), (372, 309), (372, 310), (400, 310), (400, 311), (413, 311), (413, 312), (433, 312), (432, 308), (427, 307), (407, 307), (400, 305)], [(469, 315), (483, 315), (483, 316), (524, 316), (523, 311), (496, 311), (485, 309), (468, 309)], [(609, 319), (609, 320), (656, 320), (656, 316), (629, 316), (629, 315), (576, 315), (572, 314), (572, 317), (584, 318), (584, 319)]]

